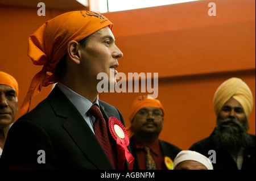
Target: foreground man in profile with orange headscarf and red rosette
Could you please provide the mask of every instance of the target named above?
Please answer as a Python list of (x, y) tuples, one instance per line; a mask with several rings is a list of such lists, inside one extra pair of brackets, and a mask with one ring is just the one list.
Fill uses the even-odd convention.
[(32, 95), (42, 86), (57, 85), (11, 127), (0, 161), (3, 168), (132, 168), (129, 137), (123, 138), (128, 140), (125, 145), (117, 145), (120, 134), (113, 132), (115, 123), (126, 133), (123, 117), (98, 99), (98, 73), (107, 74), (109, 84), (116, 83), (110, 72), (117, 74), (117, 59), (123, 55), (112, 27), (101, 14), (72, 11), (48, 20), (30, 36), (28, 56), (43, 68), (32, 79), (22, 111), (29, 111)]

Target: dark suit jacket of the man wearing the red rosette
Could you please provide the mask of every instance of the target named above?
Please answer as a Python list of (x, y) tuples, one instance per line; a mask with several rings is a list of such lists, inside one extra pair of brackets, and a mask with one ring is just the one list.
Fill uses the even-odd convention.
[[(110, 116), (124, 124), (117, 108), (99, 100), (106, 124)], [(114, 141), (112, 139), (111, 141)], [(116, 145), (116, 143), (114, 144)], [(128, 146), (130, 150), (130, 147)], [(43, 150), (46, 163), (43, 160)], [(125, 169), (127, 169), (127, 161)], [(88, 124), (55, 86), (34, 110), (10, 128), (0, 159), (2, 169), (113, 169)]]

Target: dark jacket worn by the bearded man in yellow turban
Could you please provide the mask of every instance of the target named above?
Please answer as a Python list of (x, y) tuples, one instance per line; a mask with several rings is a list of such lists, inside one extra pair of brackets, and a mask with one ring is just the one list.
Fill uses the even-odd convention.
[[(209, 150), (214, 150), (216, 153), (216, 163), (212, 163), (213, 170), (237, 170), (237, 164), (232, 158), (232, 156), (228, 153), (228, 151), (223, 149), (216, 149), (213, 147), (212, 144), (212, 136), (214, 132), (204, 140), (201, 140), (199, 142), (196, 142), (189, 148), (189, 150), (197, 151), (205, 157), (212, 157), (213, 153), (209, 153)], [(248, 146), (248, 148), (245, 149), (244, 155), (243, 155), (243, 164), (242, 164), (242, 170), (255, 170), (256, 164), (255, 164), (255, 135), (251, 135), (250, 137), (253, 139), (254, 144)], [(212, 160), (212, 159), (211, 159)]]

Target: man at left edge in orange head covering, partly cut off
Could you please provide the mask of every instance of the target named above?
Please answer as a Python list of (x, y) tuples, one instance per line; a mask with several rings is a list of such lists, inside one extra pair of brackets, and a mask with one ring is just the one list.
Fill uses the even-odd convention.
[(7, 133), (18, 110), (18, 93), (16, 79), (10, 74), (0, 71), (0, 157)]

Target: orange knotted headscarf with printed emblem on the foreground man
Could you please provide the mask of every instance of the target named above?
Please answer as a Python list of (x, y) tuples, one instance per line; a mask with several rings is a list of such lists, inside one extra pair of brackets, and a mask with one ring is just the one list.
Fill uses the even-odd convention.
[(42, 86), (57, 82), (56, 64), (67, 53), (69, 41), (80, 41), (92, 33), (113, 24), (103, 15), (92, 11), (66, 12), (48, 20), (28, 39), (28, 56), (33, 64), (43, 65), (30, 84), (22, 111), (28, 112), (32, 95), (39, 94)]

